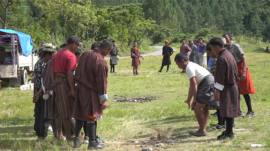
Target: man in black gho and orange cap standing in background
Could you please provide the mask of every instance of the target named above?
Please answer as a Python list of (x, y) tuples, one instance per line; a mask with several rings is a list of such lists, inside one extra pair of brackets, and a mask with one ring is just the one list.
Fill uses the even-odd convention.
[(161, 73), (162, 69), (164, 66), (167, 66), (167, 71), (166, 73), (168, 73), (169, 71), (169, 67), (170, 67), (170, 64), (171, 64), (171, 55), (173, 55), (173, 48), (169, 46), (169, 41), (166, 40), (165, 41), (165, 46), (163, 46), (162, 48), (162, 55), (163, 55), (163, 59), (162, 59), (162, 64), (161, 64), (161, 68), (158, 72)]

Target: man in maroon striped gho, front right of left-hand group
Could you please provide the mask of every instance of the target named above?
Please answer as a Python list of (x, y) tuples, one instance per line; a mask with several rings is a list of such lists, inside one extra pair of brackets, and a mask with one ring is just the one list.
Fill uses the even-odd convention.
[[(76, 134), (87, 121), (89, 135), (88, 149), (102, 149), (96, 139), (95, 121), (102, 120), (103, 110), (107, 108), (108, 66), (104, 56), (113, 48), (111, 40), (105, 39), (98, 48), (84, 52), (80, 57), (74, 79), (77, 82), (73, 117), (76, 119)], [(80, 138), (73, 140), (74, 147), (81, 147)]]

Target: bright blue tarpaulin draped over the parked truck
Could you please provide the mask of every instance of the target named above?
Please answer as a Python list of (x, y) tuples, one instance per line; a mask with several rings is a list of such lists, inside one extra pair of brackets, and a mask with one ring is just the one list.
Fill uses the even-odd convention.
[[(3, 32), (3, 33), (2, 33)], [(32, 38), (28, 34), (21, 33), (19, 31), (13, 31), (11, 29), (0, 29), (0, 34), (17, 34), (19, 37), (19, 49), (20, 52), (26, 56), (30, 55), (33, 50)]]

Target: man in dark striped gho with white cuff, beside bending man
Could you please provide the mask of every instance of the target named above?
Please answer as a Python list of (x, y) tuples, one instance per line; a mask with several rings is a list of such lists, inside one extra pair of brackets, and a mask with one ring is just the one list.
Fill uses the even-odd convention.
[(224, 48), (224, 41), (219, 37), (213, 37), (208, 43), (212, 51), (218, 55), (216, 62), (215, 101), (220, 102), (220, 116), (226, 120), (226, 130), (217, 137), (218, 140), (231, 138), (234, 139), (232, 132), (233, 118), (238, 115), (239, 108), (239, 76), (237, 65), (232, 54)]

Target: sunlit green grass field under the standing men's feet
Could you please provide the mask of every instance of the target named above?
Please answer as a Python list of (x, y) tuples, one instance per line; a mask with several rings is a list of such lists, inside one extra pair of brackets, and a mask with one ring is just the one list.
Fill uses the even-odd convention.
[[(207, 137), (196, 138), (188, 134), (196, 131), (199, 125), (193, 111), (187, 109), (184, 101), (187, 99), (189, 81), (186, 74), (180, 74), (174, 60), (168, 74), (158, 73), (162, 56), (147, 56), (141, 60), (139, 76), (133, 76), (131, 59), (119, 60), (116, 65), (116, 74), (109, 74), (108, 95), (109, 106), (104, 110), (104, 120), (98, 121), (98, 134), (108, 141), (105, 151), (139, 151), (142, 147), (156, 148), (157, 151), (221, 151), (221, 150), (270, 150), (270, 55), (264, 53), (264, 48), (258, 46), (243, 46), (247, 65), (253, 79), (256, 94), (250, 95), (253, 111), (256, 117), (250, 119), (236, 118), (233, 129), (236, 139), (217, 141), (221, 132), (208, 132)], [(179, 50), (179, 48), (177, 49)], [(109, 62), (109, 61), (108, 61)], [(164, 67), (166, 68), (166, 67)], [(3, 83), (2, 83), (3, 84)], [(86, 150), (87, 145), (74, 149), (66, 142), (57, 144), (53, 141), (52, 132), (49, 132), (47, 142), (36, 142), (37, 137), (33, 130), (34, 103), (33, 91), (7, 90), (9, 86), (4, 83), (0, 90), (0, 150)], [(17, 89), (17, 88), (16, 88)], [(113, 102), (114, 97), (141, 97), (156, 96), (151, 102)], [(242, 96), (241, 96), (242, 97)], [(242, 100), (241, 110), (247, 112), (247, 106)], [(214, 111), (210, 111), (214, 113)], [(16, 123), (11, 126), (9, 121)], [(216, 117), (210, 117), (208, 129), (211, 124), (217, 123)], [(155, 133), (153, 127), (158, 129), (174, 128), (171, 139), (175, 145), (165, 144), (154, 147), (150, 137)], [(245, 129), (245, 130), (236, 130)], [(145, 144), (131, 143), (132, 141), (146, 141)], [(116, 142), (110, 142), (116, 141)], [(147, 142), (148, 141), (148, 142)], [(251, 144), (263, 144), (264, 147), (252, 148)], [(140, 147), (142, 146), (142, 147)]]

